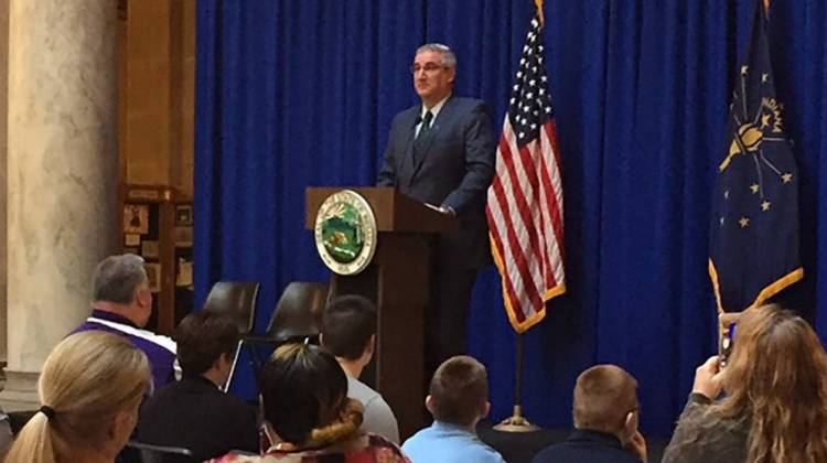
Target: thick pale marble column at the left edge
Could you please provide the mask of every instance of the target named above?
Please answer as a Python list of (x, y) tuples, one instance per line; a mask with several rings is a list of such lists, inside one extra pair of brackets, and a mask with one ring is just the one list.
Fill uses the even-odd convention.
[(8, 366), (31, 408), (52, 347), (117, 249), (117, 2), (9, 0)]

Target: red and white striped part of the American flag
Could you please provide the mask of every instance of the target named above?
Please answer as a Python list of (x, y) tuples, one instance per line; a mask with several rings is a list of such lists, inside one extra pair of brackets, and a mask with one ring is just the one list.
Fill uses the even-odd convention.
[(566, 292), (562, 183), (554, 119), (548, 118), (538, 133), (518, 148), (506, 115), (486, 207), (503, 299), (519, 333), (543, 320), (546, 301)]

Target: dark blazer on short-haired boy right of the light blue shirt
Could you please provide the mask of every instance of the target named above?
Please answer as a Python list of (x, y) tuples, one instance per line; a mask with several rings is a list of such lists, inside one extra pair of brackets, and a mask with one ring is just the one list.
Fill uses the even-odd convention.
[(533, 463), (641, 463), (632, 452), (623, 449), (620, 440), (604, 432), (574, 430), (569, 438), (546, 448)]

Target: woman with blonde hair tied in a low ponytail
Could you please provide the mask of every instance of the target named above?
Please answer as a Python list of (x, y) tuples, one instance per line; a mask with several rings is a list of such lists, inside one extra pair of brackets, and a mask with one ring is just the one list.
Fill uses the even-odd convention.
[(150, 375), (147, 356), (121, 336), (66, 337), (43, 365), (43, 407), (20, 431), (6, 462), (114, 462), (138, 422)]

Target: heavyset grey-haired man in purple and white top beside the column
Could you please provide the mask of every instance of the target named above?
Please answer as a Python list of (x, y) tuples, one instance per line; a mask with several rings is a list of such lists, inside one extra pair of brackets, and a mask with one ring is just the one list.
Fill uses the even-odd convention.
[(107, 257), (95, 268), (92, 293), (92, 316), (73, 333), (106, 331), (125, 336), (147, 354), (155, 388), (172, 381), (175, 343), (142, 330), (152, 314), (152, 292), (143, 259), (132, 254)]

